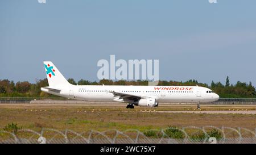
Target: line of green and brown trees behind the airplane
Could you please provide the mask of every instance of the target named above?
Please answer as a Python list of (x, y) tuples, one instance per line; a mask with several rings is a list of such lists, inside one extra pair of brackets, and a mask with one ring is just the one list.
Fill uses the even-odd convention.
[[(143, 85), (147, 86), (148, 81), (112, 81), (109, 79), (101, 79), (99, 82), (91, 82), (85, 79), (81, 79), (76, 82), (73, 78), (69, 78), (68, 82), (73, 85)], [(212, 89), (215, 93), (220, 95), (221, 98), (256, 98), (256, 90), (251, 82), (237, 81), (235, 85), (229, 83), (229, 77), (226, 78), (225, 84), (221, 82), (214, 82), (210, 85), (207, 83), (200, 83), (195, 79), (188, 81), (159, 81), (159, 86), (203, 86)], [(0, 80), (0, 97), (56, 97), (48, 93), (44, 93), (40, 90), (40, 87), (48, 86), (47, 78), (40, 79), (36, 83), (30, 83), (28, 81), (16, 82), (9, 81), (8, 79)]]

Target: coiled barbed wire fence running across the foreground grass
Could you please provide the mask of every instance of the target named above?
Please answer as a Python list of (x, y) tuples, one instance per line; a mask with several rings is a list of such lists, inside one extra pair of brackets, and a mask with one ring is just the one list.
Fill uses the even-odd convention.
[(107, 131), (90, 130), (77, 133), (70, 129), (42, 128), (40, 132), (31, 129), (17, 129), (15, 131), (0, 131), (0, 143), (82, 143), (82, 144), (180, 144), (180, 143), (256, 143), (256, 128), (214, 127), (169, 127), (164, 129), (150, 129), (144, 132), (138, 129), (117, 129)]

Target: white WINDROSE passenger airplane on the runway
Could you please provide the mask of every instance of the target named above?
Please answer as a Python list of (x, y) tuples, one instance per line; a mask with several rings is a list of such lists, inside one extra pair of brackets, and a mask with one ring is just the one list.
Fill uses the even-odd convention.
[(90, 102), (121, 102), (126, 108), (158, 107), (158, 103), (214, 102), (220, 97), (201, 86), (106, 86), (72, 85), (51, 61), (44, 61), (49, 86), (41, 90), (64, 98)]

